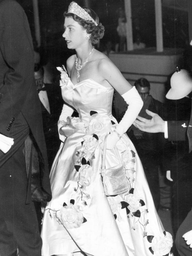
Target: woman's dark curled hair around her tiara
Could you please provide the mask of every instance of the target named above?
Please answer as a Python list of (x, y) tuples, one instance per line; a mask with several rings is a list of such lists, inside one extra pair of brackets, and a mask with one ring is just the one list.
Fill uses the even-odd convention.
[(77, 21), (84, 29), (86, 29), (87, 34), (91, 34), (91, 43), (97, 44), (104, 36), (105, 28), (101, 23), (99, 23), (99, 17), (92, 9), (88, 7), (82, 8), (93, 18), (93, 20), (95, 20), (95, 22), (97, 22), (97, 26), (91, 20), (83, 20), (82, 18), (73, 13), (64, 12), (64, 17), (71, 17), (75, 21)]

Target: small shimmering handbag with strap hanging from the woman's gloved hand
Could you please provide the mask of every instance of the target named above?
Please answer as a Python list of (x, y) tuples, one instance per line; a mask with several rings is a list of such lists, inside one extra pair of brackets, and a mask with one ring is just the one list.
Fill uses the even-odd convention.
[(114, 150), (115, 150), (115, 154), (117, 155), (119, 164), (117, 166), (113, 166), (108, 169), (105, 168), (106, 140), (107, 140), (107, 136), (105, 137), (105, 140), (104, 140), (102, 168), (101, 168), (101, 176), (102, 176), (105, 195), (113, 196), (113, 195), (123, 194), (130, 189), (130, 186), (127, 181), (125, 169), (116, 146)]

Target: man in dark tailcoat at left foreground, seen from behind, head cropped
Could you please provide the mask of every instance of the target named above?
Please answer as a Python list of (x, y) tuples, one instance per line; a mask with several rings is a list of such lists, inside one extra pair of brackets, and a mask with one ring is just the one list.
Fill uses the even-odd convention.
[(51, 189), (32, 38), (14, 0), (0, 0), (0, 38), (0, 134), (14, 141), (0, 150), (0, 255), (40, 256), (32, 200), (51, 200)]

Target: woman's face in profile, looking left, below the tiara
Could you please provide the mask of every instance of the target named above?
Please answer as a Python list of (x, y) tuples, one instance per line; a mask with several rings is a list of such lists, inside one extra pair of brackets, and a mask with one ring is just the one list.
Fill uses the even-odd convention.
[(76, 49), (85, 41), (86, 30), (71, 17), (65, 17), (63, 37), (69, 49)]

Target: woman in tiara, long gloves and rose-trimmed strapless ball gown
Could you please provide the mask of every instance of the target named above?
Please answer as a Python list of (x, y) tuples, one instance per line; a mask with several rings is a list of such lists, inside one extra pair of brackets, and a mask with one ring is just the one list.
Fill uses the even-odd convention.
[[(71, 2), (64, 16), (63, 37), (76, 54), (67, 60), (67, 71), (58, 67), (65, 101), (58, 121), (62, 143), (50, 174), (53, 198), (44, 208), (42, 255), (167, 256), (172, 237), (163, 229), (141, 161), (125, 134), (142, 100), (93, 47), (104, 35), (97, 14)], [(111, 113), (114, 88), (129, 105), (119, 124)], [(74, 109), (79, 117), (71, 117)], [(125, 179), (117, 175), (111, 184), (116, 191), (126, 183), (120, 194), (104, 190), (103, 151), (106, 169), (123, 165)]]

